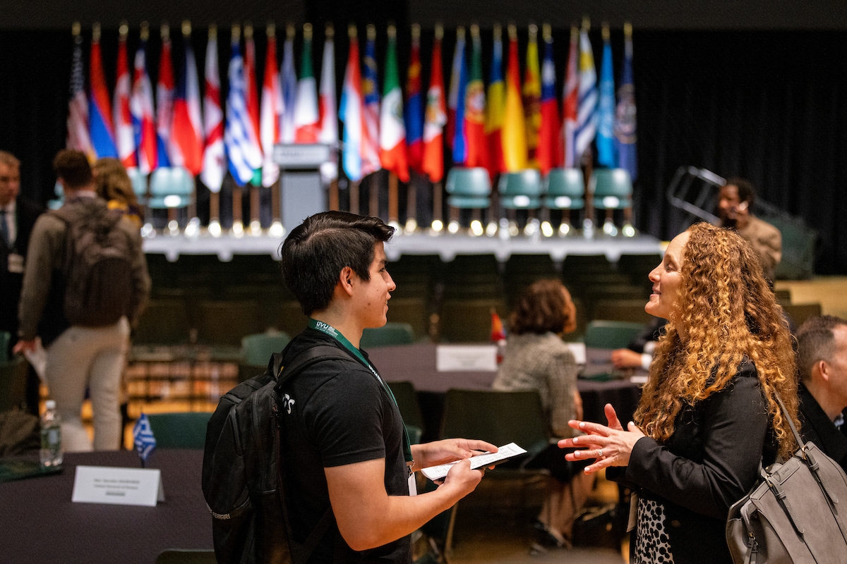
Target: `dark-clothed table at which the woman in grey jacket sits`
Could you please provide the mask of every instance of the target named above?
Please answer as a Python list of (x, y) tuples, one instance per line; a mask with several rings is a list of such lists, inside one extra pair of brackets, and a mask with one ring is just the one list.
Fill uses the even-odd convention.
[[(435, 343), (417, 342), (367, 351), (368, 358), (385, 381), (412, 382), (424, 418), (423, 441), (438, 438), (447, 390), (490, 390), (497, 375), (495, 370), (438, 370), (436, 357), (439, 347)], [(606, 423), (603, 412), (606, 403), (612, 404), (622, 421), (632, 419), (638, 407), (645, 371), (636, 370), (632, 375), (623, 375), (613, 370), (611, 354), (612, 351), (606, 349), (585, 350), (586, 362), (582, 371), (595, 376), (594, 379), (577, 380), (586, 421)]]

